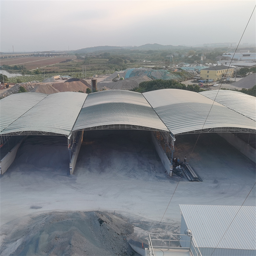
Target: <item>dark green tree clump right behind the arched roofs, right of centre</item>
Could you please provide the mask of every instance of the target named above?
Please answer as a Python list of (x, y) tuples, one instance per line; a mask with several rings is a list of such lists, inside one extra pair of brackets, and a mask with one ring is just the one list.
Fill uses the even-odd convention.
[(188, 85), (181, 84), (175, 80), (152, 80), (145, 81), (139, 84), (139, 87), (132, 89), (133, 92), (149, 92), (160, 89), (181, 89), (188, 90), (192, 92), (202, 92), (204, 89), (200, 88), (198, 85)]

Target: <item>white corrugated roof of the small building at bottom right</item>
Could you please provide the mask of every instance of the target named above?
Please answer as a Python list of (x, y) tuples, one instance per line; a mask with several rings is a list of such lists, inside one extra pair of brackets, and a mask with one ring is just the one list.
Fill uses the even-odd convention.
[(182, 216), (199, 248), (217, 246), (256, 253), (256, 207), (242, 206), (238, 212), (239, 208), (230, 205), (180, 205)]

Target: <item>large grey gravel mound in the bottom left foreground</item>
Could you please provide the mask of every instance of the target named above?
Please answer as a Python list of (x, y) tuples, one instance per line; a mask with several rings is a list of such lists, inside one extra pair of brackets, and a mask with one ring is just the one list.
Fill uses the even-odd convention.
[(1, 255), (132, 255), (133, 227), (105, 212), (64, 212), (31, 218), (1, 246)]

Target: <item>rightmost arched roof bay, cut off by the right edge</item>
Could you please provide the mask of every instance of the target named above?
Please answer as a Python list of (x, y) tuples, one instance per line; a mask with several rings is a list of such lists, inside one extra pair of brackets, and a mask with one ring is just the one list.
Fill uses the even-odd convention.
[(218, 90), (212, 90), (199, 93), (212, 100), (216, 98), (215, 101), (221, 105), (256, 121), (256, 97), (229, 90), (220, 90), (219, 92)]

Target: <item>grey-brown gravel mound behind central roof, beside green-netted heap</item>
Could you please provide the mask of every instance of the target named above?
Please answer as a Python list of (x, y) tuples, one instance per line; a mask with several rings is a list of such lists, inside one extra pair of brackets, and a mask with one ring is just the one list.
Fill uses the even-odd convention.
[(133, 76), (124, 80), (119, 80), (117, 82), (112, 81), (102, 81), (98, 83), (98, 88), (108, 87), (110, 89), (123, 89), (130, 90), (139, 87), (139, 84), (144, 81), (151, 81), (152, 79), (148, 76)]

